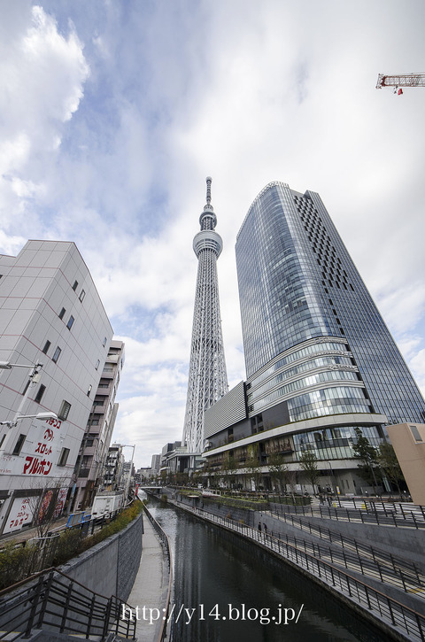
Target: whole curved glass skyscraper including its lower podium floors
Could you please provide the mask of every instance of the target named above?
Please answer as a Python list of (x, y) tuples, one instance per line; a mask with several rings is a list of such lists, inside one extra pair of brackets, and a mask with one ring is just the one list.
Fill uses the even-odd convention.
[(377, 448), (385, 424), (425, 422), (425, 402), (321, 197), (269, 183), (243, 220), (236, 266), (248, 378), (205, 410), (209, 471), (233, 467), (250, 487), (257, 458), (271, 488), (279, 454), (305, 491), (308, 451), (320, 489), (366, 491), (359, 431)]

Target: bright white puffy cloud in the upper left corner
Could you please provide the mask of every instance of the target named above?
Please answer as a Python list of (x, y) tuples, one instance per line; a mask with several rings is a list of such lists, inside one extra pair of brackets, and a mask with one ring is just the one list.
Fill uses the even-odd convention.
[[(0, 214), (6, 229), (24, 220), (27, 199), (47, 190), (45, 175), (89, 74), (72, 26), (64, 37), (41, 6), (24, 3), (21, 9), (20, 15), (5, 12), (0, 41)], [(26, 228), (35, 228), (33, 221), (26, 220)]]

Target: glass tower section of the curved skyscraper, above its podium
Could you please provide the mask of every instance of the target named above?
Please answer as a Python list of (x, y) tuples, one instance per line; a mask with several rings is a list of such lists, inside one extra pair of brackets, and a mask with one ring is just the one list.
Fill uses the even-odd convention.
[(425, 422), (425, 402), (321, 198), (282, 182), (254, 200), (236, 241), (250, 414), (290, 422), (380, 413)]

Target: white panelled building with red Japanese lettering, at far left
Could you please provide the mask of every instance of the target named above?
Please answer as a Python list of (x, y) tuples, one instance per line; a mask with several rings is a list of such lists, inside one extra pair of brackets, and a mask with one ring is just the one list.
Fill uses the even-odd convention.
[[(112, 328), (73, 243), (28, 241), (0, 275), (0, 361), (18, 364), (0, 370), (1, 535), (64, 506)], [(17, 418), (41, 412), (58, 420)]]

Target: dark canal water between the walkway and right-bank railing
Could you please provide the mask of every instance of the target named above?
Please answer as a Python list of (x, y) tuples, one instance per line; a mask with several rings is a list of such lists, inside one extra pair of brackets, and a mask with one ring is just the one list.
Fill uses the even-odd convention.
[(154, 500), (149, 508), (173, 550), (174, 642), (388, 639), (257, 546)]

